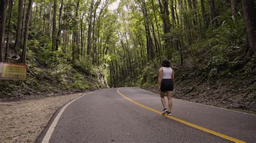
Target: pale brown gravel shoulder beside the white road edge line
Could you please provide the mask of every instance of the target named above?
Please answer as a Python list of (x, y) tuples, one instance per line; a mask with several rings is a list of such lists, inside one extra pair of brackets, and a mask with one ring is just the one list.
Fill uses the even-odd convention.
[(33, 142), (56, 110), (86, 92), (0, 102), (0, 142)]

